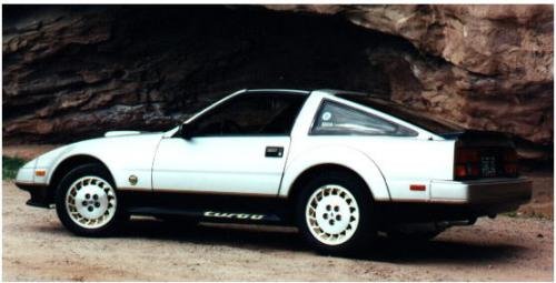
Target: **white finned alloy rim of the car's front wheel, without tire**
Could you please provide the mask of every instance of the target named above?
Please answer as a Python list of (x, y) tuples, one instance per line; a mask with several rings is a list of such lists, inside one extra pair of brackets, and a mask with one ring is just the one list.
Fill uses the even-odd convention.
[(66, 193), (66, 210), (81, 228), (97, 229), (109, 223), (116, 214), (116, 192), (99, 176), (79, 178)]

